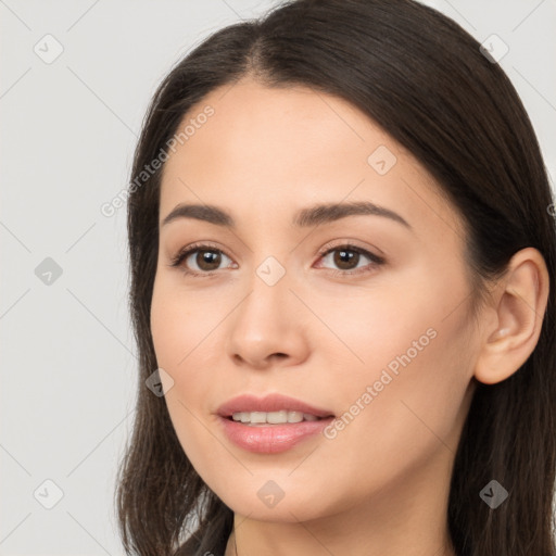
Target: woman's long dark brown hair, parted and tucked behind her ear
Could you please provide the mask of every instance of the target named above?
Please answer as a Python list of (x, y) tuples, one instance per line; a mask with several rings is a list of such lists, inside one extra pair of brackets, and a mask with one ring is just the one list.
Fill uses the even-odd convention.
[[(448, 528), (459, 556), (555, 556), (556, 231), (531, 122), (511, 83), (448, 17), (410, 0), (298, 0), (210, 36), (164, 78), (149, 106), (131, 176), (155, 160), (191, 106), (251, 76), (341, 97), (377, 122), (435, 178), (466, 225), (473, 302), (514, 253), (536, 248), (549, 274), (539, 342), (522, 367), (479, 383), (456, 453)], [(200, 479), (164, 397), (150, 308), (159, 249), (161, 170), (128, 199), (130, 308), (139, 348), (132, 438), (116, 492), (127, 554), (223, 555), (233, 514)], [(477, 305), (471, 305), (472, 307)], [(479, 496), (497, 480), (496, 509)]]

